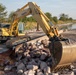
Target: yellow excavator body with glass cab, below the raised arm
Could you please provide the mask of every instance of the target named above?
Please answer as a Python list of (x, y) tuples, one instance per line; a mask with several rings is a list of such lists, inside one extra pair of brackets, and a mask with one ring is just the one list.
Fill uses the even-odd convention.
[(9, 23), (0, 24), (0, 42), (1, 43), (4, 43), (7, 40), (14, 38), (14, 37), (25, 36), (24, 23), (16, 22), (14, 24), (14, 22), (12, 24), (9, 24)]

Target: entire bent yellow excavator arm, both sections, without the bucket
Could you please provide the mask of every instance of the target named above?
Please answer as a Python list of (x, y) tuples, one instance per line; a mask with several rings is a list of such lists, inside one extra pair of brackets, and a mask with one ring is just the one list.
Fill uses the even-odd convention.
[(19, 21), (19, 19), (28, 15), (32, 15), (34, 17), (34, 19), (37, 21), (37, 23), (40, 24), (41, 28), (49, 38), (58, 36), (57, 29), (51, 25), (50, 20), (41, 11), (40, 7), (37, 6), (34, 2), (28, 2), (28, 4), (26, 4), (21, 9), (15, 12), (14, 22), (10, 28), (11, 34), (14, 30), (14, 27), (17, 26), (17, 22)]

